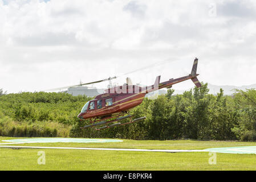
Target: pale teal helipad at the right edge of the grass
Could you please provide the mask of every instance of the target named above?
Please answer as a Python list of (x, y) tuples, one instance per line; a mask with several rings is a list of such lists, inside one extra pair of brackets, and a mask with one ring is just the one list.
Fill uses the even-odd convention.
[(256, 146), (207, 148), (205, 151), (229, 154), (256, 154)]

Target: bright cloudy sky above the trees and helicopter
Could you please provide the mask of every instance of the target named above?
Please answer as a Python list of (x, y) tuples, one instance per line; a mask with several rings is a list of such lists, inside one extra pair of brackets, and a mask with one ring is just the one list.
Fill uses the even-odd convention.
[(194, 57), (200, 81), (255, 84), (255, 20), (253, 0), (0, 0), (0, 88), (34, 92), (155, 64), (115, 81), (149, 85), (190, 73)]

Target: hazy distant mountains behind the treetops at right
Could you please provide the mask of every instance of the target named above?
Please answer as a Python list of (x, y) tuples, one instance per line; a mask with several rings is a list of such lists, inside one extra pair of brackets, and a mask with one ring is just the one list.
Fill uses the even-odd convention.
[[(210, 89), (209, 93), (216, 95), (218, 92), (220, 92), (220, 89), (222, 88), (224, 90), (224, 95), (232, 95), (234, 93), (234, 89), (238, 90), (246, 90), (255, 88), (256, 84), (253, 85), (243, 85), (243, 86), (233, 86), (233, 85), (212, 85), (208, 83), (208, 88)], [(190, 89), (188, 89), (190, 90)], [(188, 90), (175, 90), (174, 94), (182, 94), (185, 91)]]

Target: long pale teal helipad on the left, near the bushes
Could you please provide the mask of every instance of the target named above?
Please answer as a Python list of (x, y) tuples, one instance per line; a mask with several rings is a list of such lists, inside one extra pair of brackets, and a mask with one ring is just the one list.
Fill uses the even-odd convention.
[(107, 142), (123, 142), (123, 140), (115, 139), (91, 139), (91, 138), (23, 138), (2, 140), (3, 142), (21, 142), (21, 143), (107, 143)]

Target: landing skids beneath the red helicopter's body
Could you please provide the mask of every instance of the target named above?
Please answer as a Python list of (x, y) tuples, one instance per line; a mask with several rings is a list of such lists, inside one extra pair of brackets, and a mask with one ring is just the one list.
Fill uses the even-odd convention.
[[(116, 116), (116, 117), (119, 117), (120, 115)], [(113, 117), (111, 117), (113, 118)], [(109, 123), (112, 123), (112, 122), (117, 122), (117, 121), (121, 121), (123, 119), (127, 119), (127, 118), (130, 118), (130, 122), (127, 122), (127, 123), (114, 123), (112, 125), (108, 125)], [(106, 118), (105, 118), (106, 119)], [(100, 126), (100, 125), (105, 125), (103, 127), (100, 127), (99, 129), (96, 128), (96, 130), (103, 130), (103, 129), (109, 129), (111, 127), (115, 127), (115, 126), (122, 126), (122, 125), (128, 125), (128, 124), (131, 124), (131, 123), (134, 123), (134, 122), (137, 122), (137, 121), (141, 121), (143, 119), (146, 119), (146, 117), (141, 117), (141, 118), (137, 118), (137, 119), (133, 119), (132, 120), (132, 115), (128, 114), (128, 115), (125, 115), (123, 117), (119, 117), (119, 118), (116, 118), (116, 119), (113, 119), (111, 121), (101, 121), (101, 122), (97, 122), (97, 123), (93, 123), (92, 125), (86, 125), (84, 127), (80, 127), (80, 129), (88, 129), (90, 127), (94, 127), (94, 126)]]

